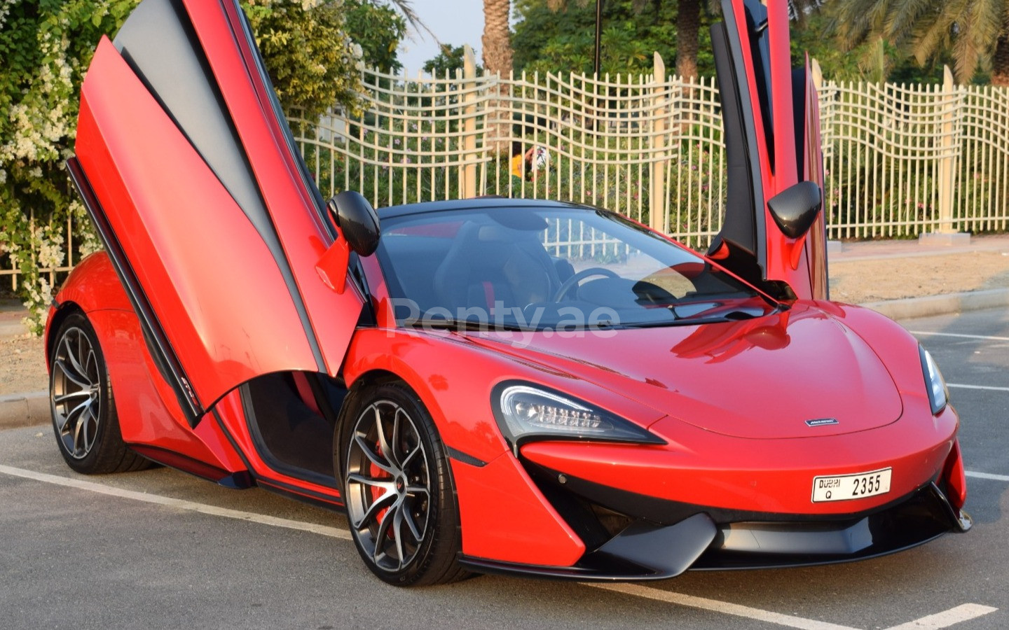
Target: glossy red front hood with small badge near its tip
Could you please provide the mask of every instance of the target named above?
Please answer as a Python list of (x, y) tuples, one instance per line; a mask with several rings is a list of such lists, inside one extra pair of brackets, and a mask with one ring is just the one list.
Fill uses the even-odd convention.
[(471, 339), (498, 351), (507, 344), (506, 352), (525, 360), (726, 435), (849, 433), (894, 422), (902, 411), (893, 379), (862, 338), (842, 320), (801, 303), (743, 322), (537, 333), (521, 343), (519, 336)]

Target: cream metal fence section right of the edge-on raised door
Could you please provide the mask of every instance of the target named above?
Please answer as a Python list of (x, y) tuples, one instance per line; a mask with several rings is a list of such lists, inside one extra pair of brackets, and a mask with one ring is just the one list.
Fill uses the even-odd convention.
[(1009, 92), (943, 85), (820, 89), (833, 238), (1004, 231)]

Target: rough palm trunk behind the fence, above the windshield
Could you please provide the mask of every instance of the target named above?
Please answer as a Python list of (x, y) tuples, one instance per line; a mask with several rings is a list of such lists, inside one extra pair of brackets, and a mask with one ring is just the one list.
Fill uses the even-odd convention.
[[(488, 74), (499, 75), (508, 80), (512, 72), (512, 41), (509, 29), (509, 13), (512, 9), (511, 0), (483, 0), (483, 68)], [(508, 97), (508, 85), (498, 85), (497, 94)], [(492, 153), (503, 152), (511, 146), (509, 137), (512, 135), (511, 109), (509, 102), (491, 100), (487, 103), (489, 110), (485, 126), (485, 146)]]

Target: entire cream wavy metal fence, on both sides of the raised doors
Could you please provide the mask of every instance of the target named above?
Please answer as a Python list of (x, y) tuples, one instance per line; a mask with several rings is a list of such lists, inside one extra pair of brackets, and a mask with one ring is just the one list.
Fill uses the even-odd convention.
[[(323, 192), (376, 207), (484, 195), (621, 212), (696, 248), (717, 233), (725, 155), (713, 81), (366, 71), (361, 116), (290, 119)], [(1009, 91), (818, 79), (830, 238), (1009, 227)], [(546, 156), (527, 163), (530, 148)], [(534, 151), (535, 153), (535, 151)], [(515, 156), (519, 157), (515, 157)], [(68, 226), (68, 239), (72, 234)], [(67, 257), (64, 271), (76, 262)], [(0, 254), (0, 276), (16, 270)]]

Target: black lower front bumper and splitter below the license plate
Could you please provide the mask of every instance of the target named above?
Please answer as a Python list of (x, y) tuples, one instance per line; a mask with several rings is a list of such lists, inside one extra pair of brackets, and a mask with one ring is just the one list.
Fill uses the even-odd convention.
[[(546, 449), (530, 451), (542, 454)], [(732, 508), (682, 502), (582, 479), (566, 467), (558, 470), (535, 462), (542, 459), (535, 455), (518, 461), (506, 458), (522, 470), (541, 501), (580, 540), (582, 551), (563, 565), (535, 564), (525, 558), (510, 561), (482, 553), (461, 558), (481, 573), (587, 581), (662, 580), (688, 569), (766, 569), (865, 559), (971, 527), (970, 516), (961, 509), (966, 489), (955, 439), (931, 460), (917, 485), (907, 486), (905, 479), (896, 498), (810, 504), (807, 494), (807, 507), (801, 512), (755, 509), (752, 504)], [(805, 479), (807, 474), (798, 476)], [(840, 509), (838, 503), (844, 504)]]

